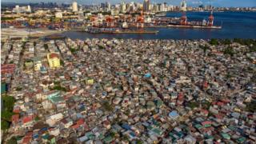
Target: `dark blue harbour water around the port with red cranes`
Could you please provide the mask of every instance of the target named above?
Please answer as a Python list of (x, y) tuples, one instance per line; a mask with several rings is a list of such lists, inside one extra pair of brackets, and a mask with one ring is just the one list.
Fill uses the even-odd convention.
[[(188, 21), (207, 19), (210, 12), (187, 12)], [(181, 17), (178, 12), (169, 12), (166, 17)], [(210, 39), (210, 38), (256, 38), (256, 12), (214, 12), (214, 29), (154, 28), (158, 34), (88, 34), (66, 31), (71, 39), (86, 38), (135, 38), (135, 39)]]

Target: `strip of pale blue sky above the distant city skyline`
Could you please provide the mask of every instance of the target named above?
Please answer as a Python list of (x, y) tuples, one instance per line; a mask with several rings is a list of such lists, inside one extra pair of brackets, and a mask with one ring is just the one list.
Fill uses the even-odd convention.
[[(58, 3), (71, 3), (74, 0), (2, 0), (2, 2), (58, 2)], [(143, 2), (143, 0), (124, 0), (124, 2)], [(99, 4), (106, 2), (106, 0), (76, 0), (78, 4)], [(119, 3), (122, 0), (107, 0), (110, 3)], [(170, 5), (179, 6), (182, 0), (150, 0), (152, 3), (167, 2)], [(186, 0), (187, 6), (199, 6), (200, 4), (213, 6), (256, 6), (256, 0)]]

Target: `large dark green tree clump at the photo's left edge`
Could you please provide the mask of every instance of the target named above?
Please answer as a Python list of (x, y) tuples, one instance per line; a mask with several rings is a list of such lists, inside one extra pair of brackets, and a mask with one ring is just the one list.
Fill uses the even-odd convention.
[(2, 102), (3, 109), (1, 110), (1, 129), (7, 130), (10, 126), (11, 116), (14, 114), (13, 108), (15, 100), (13, 97), (2, 95)]

